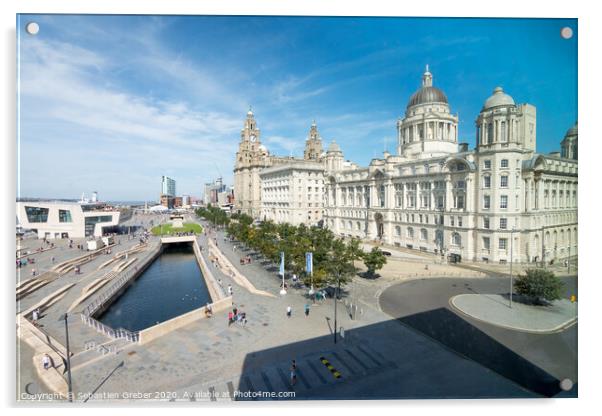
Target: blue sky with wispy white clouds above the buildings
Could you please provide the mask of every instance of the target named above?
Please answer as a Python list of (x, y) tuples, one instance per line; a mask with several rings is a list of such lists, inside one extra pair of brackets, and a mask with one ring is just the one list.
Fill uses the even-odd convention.
[[(40, 24), (36, 36), (25, 24)], [(395, 151), (425, 64), (475, 145), (493, 88), (537, 107), (538, 151), (577, 120), (575, 19), (21, 15), (20, 196), (157, 200), (232, 182), (249, 105), (271, 153), (313, 119), (362, 166)], [(561, 28), (575, 35), (566, 40)]]

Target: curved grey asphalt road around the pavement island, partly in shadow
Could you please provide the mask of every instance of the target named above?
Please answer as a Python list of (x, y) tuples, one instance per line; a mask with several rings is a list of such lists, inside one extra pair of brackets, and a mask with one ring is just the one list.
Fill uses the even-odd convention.
[[(567, 295), (576, 294), (576, 279), (563, 280)], [(507, 294), (509, 284), (507, 278), (493, 277), (414, 280), (387, 288), (379, 303), (404, 326), (525, 388), (555, 396), (559, 380), (577, 380), (577, 325), (553, 334), (524, 333), (459, 316), (449, 306), (458, 294)]]

